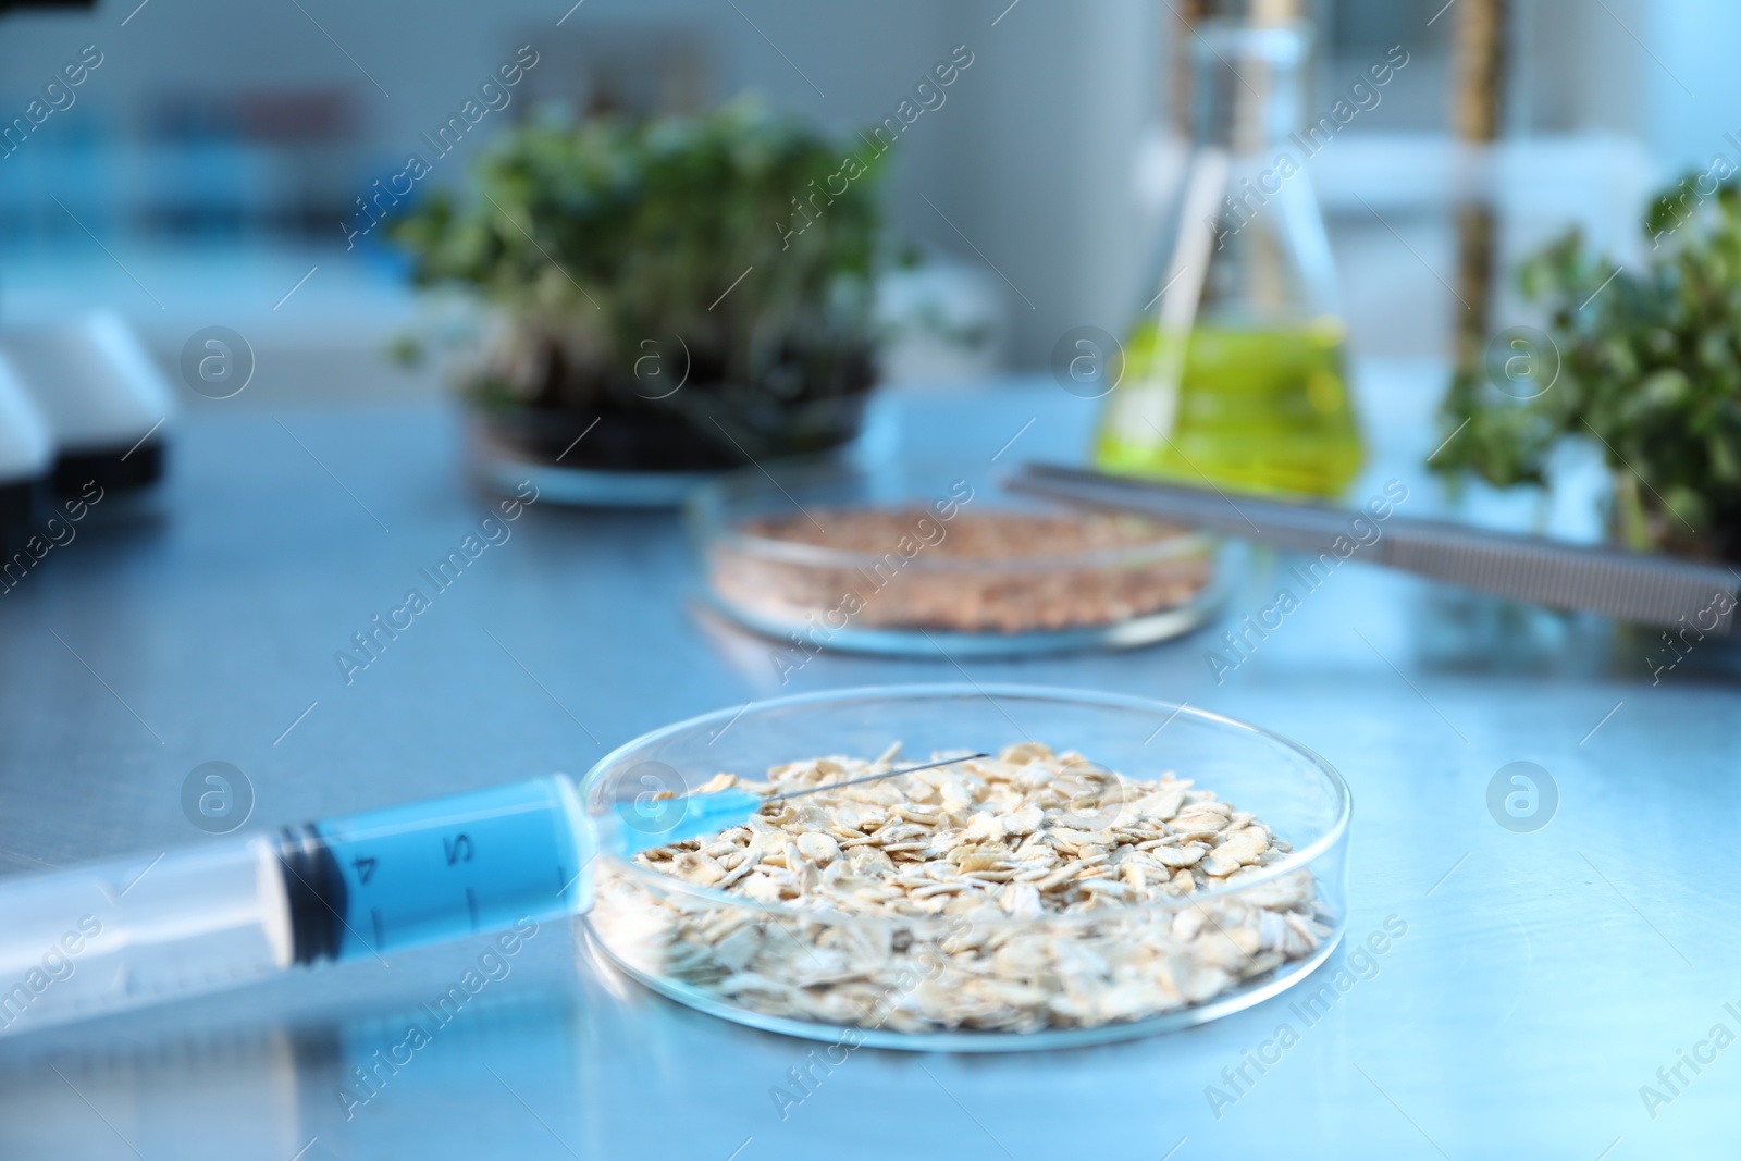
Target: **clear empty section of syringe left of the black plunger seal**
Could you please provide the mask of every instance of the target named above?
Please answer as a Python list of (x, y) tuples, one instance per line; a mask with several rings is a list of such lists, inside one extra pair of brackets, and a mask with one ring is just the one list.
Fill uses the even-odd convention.
[(19, 876), (0, 882), (0, 1034), (244, 983), (291, 957), (265, 836)]

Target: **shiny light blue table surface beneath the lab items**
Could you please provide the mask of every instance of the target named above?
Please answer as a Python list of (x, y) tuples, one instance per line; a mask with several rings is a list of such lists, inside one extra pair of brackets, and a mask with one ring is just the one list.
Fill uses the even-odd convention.
[[(1402, 479), (1405, 512), (1442, 507), (1419, 468), (1436, 386), (1431, 369), (1363, 376), (1375, 456), (1354, 500)], [(975, 463), (1017, 437), (1001, 465), (1079, 458), (1090, 423), (1092, 404), (1020, 381), (905, 393), (876, 428)], [(764, 642), (686, 602), (674, 517), (547, 505), (346, 686), (333, 653), (482, 515), (461, 460), (440, 407), (188, 414), (155, 519), (92, 520), (0, 599), (3, 872), (209, 841), (179, 787), (212, 759), (249, 775), (254, 823), (277, 827), (578, 775), (637, 733), (782, 691)], [(1516, 501), (1483, 512), (1530, 515)], [(1570, 505), (1549, 524), (1590, 534), (1581, 519)], [(1266, 604), (1287, 564), (1255, 554), (1226, 618)], [(341, 1079), (475, 947), (0, 1039), (0, 1158), (1741, 1151), (1741, 1046), (1697, 1048), (1718, 1023), (1741, 1036), (1731, 651), (1701, 646), (1652, 682), (1652, 634), (1358, 564), (1220, 684), (1203, 656), (1219, 632), (965, 665), (975, 681), (1189, 700), (1292, 736), (1348, 778), (1349, 935), (1388, 917), (1407, 933), (1231, 1104), (1212, 1107), (1207, 1088), (1231, 1095), (1222, 1070), (1294, 1020), (1285, 999), (1109, 1048), (860, 1050), (782, 1117), (770, 1088), (811, 1044), (688, 1011), (585, 954), (576, 970), (575, 938), (552, 924), (348, 1121)], [(954, 679), (942, 658), (823, 654), (787, 691)], [(1558, 785), (1556, 816), (1532, 834), (1487, 809), (1513, 761)], [(1696, 1048), (1715, 1060), (1682, 1064), (1670, 1095), (1657, 1070)], [(1670, 1098), (1647, 1109), (1642, 1086)]]

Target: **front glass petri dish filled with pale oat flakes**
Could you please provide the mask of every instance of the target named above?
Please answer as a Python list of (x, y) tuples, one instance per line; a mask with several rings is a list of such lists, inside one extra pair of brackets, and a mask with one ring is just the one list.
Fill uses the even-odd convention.
[[(968, 754), (985, 757), (829, 789)], [(649, 787), (669, 808), (655, 829), (728, 789), (761, 808), (629, 842), (622, 804)], [(581, 794), (606, 836), (588, 950), (702, 1011), (848, 1046), (998, 1051), (1203, 1023), (1301, 982), (1344, 929), (1342, 778), (1276, 735), (1142, 698), (761, 701), (620, 747)]]

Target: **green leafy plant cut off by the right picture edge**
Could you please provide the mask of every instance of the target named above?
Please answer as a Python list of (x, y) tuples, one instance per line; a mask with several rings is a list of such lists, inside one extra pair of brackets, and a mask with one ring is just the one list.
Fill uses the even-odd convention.
[(1616, 479), (1616, 540), (1738, 560), (1741, 190), (1684, 181), (1644, 226), (1652, 258), (1642, 270), (1591, 254), (1577, 232), (1523, 263), (1523, 292), (1551, 312), (1558, 379), (1520, 400), (1496, 376), (1459, 374), (1442, 435), (1468, 428), (1433, 466), (1502, 487), (1544, 484), (1560, 440), (1596, 440)]

